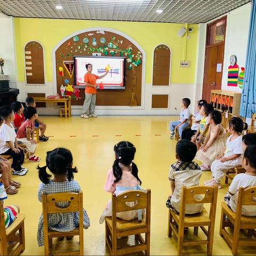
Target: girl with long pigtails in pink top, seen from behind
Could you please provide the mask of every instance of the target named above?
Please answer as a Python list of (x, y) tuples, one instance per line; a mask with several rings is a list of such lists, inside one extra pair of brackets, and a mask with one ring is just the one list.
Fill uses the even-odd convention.
[[(107, 180), (104, 189), (109, 193), (116, 195), (123, 193), (127, 190), (143, 190), (140, 187), (141, 180), (138, 176), (137, 165), (133, 162), (136, 148), (129, 141), (121, 141), (114, 147), (116, 159), (113, 167), (108, 170)], [(131, 206), (134, 202), (130, 203)], [(103, 223), (105, 217), (112, 215), (111, 200), (108, 201), (106, 209), (100, 217), (100, 223)], [(141, 220), (142, 211), (133, 210), (127, 212), (119, 212), (116, 216), (123, 220), (132, 220), (138, 218)]]

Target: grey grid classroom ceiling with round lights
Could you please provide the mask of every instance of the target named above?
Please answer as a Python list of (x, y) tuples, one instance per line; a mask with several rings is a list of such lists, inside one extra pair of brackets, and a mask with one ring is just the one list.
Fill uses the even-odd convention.
[[(200, 23), (251, 0), (0, 0), (13, 17)], [(56, 6), (62, 6), (57, 10)], [(157, 13), (162, 10), (162, 13)], [(237, 17), (239, 19), (239, 17)]]

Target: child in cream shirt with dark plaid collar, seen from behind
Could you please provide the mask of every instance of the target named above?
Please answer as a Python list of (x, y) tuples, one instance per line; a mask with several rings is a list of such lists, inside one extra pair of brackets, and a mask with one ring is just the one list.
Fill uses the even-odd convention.
[[(169, 180), (171, 181), (171, 196), (166, 201), (166, 206), (176, 213), (180, 211), (182, 186), (198, 186), (202, 175), (200, 166), (193, 162), (196, 155), (196, 145), (189, 140), (180, 140), (176, 145), (177, 162), (171, 165)], [(201, 200), (202, 198), (199, 198)], [(202, 212), (203, 204), (187, 204), (186, 214)]]

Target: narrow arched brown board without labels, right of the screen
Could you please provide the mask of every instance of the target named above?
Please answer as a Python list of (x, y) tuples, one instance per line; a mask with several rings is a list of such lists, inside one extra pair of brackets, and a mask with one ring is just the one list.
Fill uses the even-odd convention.
[(153, 86), (169, 86), (171, 81), (171, 49), (166, 44), (158, 44), (153, 52)]

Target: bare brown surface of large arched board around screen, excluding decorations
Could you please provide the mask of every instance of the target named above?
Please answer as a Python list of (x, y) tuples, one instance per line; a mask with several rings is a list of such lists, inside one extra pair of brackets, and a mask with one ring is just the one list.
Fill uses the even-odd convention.
[[(106, 39), (106, 43), (101, 43), (100, 39), (104, 37)], [(78, 34), (76, 39), (77, 42), (74, 41), (74, 37), (69, 38), (65, 41), (55, 52), (55, 61), (56, 61), (56, 77), (57, 77), (57, 92), (61, 95), (60, 86), (61, 84), (65, 85), (65, 79), (69, 80), (69, 84), (75, 85), (75, 74), (70, 78), (66, 69), (64, 69), (63, 77), (59, 74), (59, 68), (63, 67), (63, 61), (66, 60), (74, 60), (74, 55), (81, 56), (91, 56), (92, 52), (87, 48), (84, 48), (85, 43), (84, 39), (88, 38), (89, 43), (92, 44), (92, 39), (95, 38), (97, 42), (97, 46), (108, 45), (108, 42), (111, 41), (111, 38), (115, 37), (115, 42), (122, 41), (122, 44), (119, 43), (120, 49), (127, 49), (127, 47), (132, 47), (132, 54), (134, 56), (140, 50), (129, 41), (129, 39), (109, 32), (105, 31), (105, 34), (97, 33), (97, 31), (87, 31), (86, 33)], [(86, 41), (85, 41), (86, 42)], [(71, 48), (72, 47), (72, 48)], [(78, 49), (79, 47), (79, 49)], [(93, 46), (94, 47), (94, 46)], [(119, 50), (120, 50), (119, 49)], [(72, 52), (71, 52), (72, 51)], [(101, 56), (106, 56), (104, 53), (101, 53)], [(115, 53), (116, 57), (120, 55)], [(123, 55), (125, 57), (125, 55)], [(111, 54), (108, 54), (107, 57), (111, 57)], [(126, 56), (126, 58), (129, 58)], [(136, 99), (138, 106), (141, 106), (141, 82), (142, 82), (142, 53), (141, 53), (141, 63), (134, 67), (136, 74)], [(129, 69), (130, 63), (125, 61), (125, 90), (97, 90), (96, 97), (96, 105), (97, 106), (130, 106), (131, 103), (131, 92), (132, 92), (132, 69)], [(93, 70), (92, 70), (93, 73)], [(80, 89), (80, 97), (81, 99), (71, 99), (71, 105), (83, 105), (84, 102), (84, 89)]]

